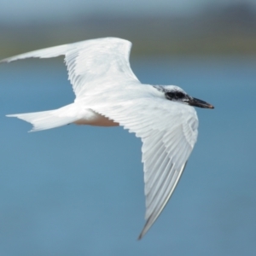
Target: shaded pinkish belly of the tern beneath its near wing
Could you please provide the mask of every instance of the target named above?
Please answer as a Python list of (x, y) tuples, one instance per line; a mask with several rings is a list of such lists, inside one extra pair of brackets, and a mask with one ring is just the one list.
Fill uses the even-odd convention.
[(100, 113), (96, 113), (91, 109), (86, 109), (83, 117), (74, 122), (76, 125), (94, 125), (94, 126), (119, 126), (113, 120), (106, 118)]

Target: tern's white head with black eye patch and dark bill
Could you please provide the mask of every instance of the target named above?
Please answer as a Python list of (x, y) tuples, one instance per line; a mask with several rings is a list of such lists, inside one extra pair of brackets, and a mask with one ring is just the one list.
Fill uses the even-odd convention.
[(183, 89), (176, 85), (154, 85), (154, 88), (164, 93), (167, 100), (180, 102), (198, 108), (214, 108), (211, 104), (189, 96)]

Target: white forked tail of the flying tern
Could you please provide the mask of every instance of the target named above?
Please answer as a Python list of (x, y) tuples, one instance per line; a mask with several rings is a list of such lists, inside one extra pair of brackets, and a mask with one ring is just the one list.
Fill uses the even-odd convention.
[(73, 123), (79, 119), (76, 110), (75, 104), (70, 104), (55, 110), (34, 113), (15, 113), (6, 116), (23, 119), (33, 125), (31, 131), (41, 131)]

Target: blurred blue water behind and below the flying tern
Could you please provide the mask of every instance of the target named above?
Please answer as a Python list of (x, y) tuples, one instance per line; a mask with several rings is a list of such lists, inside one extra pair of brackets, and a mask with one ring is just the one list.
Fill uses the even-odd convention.
[(0, 255), (255, 255), (256, 56), (131, 59), (143, 83), (177, 84), (197, 109), (198, 143), (143, 241), (141, 142), (121, 127), (26, 133), (6, 113), (73, 101), (61, 60), (0, 67)]

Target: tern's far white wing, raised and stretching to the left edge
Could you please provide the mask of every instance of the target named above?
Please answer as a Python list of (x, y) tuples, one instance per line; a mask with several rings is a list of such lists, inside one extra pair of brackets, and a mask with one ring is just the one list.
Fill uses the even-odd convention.
[(131, 71), (129, 56), (131, 42), (121, 38), (98, 38), (74, 44), (64, 44), (46, 49), (38, 49), (16, 55), (0, 62), (38, 57), (52, 58), (65, 55), (68, 79), (73, 84), (76, 96), (85, 91), (95, 90), (102, 84), (139, 83)]

